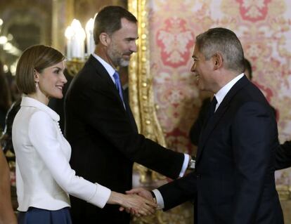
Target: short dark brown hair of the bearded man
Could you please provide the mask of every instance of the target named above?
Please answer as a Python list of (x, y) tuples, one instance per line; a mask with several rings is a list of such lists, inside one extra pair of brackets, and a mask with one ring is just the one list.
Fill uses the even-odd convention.
[(99, 43), (99, 36), (105, 32), (109, 35), (122, 27), (121, 19), (125, 18), (130, 22), (136, 23), (136, 17), (121, 6), (106, 6), (99, 11), (94, 21), (94, 41)]

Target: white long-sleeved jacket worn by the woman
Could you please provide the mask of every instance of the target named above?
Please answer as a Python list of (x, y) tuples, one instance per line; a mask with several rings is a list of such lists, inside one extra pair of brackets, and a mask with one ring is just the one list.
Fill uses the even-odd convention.
[(67, 193), (100, 208), (110, 197), (107, 187), (84, 180), (71, 169), (71, 147), (59, 119), (38, 100), (22, 97), (12, 128), (19, 211), (30, 206), (47, 210), (70, 206)]

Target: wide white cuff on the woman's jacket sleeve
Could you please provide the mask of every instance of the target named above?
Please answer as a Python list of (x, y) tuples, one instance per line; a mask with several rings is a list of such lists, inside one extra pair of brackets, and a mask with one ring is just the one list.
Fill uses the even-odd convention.
[(111, 190), (98, 183), (95, 183), (95, 184), (96, 184), (96, 191), (94, 195), (91, 197), (91, 199), (88, 200), (88, 202), (103, 209), (103, 207), (108, 202), (108, 199), (111, 195)]

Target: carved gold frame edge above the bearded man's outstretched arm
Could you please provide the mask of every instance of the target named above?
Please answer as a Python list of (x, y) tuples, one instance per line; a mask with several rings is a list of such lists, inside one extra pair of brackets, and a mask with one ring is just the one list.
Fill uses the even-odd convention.
[(138, 19), (138, 52), (132, 56), (129, 65), (130, 105), (138, 125), (138, 131), (145, 137), (166, 145), (164, 134), (157, 120), (153, 99), (153, 75), (150, 74), (150, 53), (148, 51), (148, 10), (146, 0), (129, 0), (129, 11)]

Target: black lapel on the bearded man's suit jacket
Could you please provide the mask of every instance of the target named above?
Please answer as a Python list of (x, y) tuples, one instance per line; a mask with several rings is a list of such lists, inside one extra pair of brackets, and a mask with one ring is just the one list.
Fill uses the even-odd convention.
[(112, 81), (110, 74), (108, 74), (108, 72), (105, 70), (105, 67), (103, 67), (103, 65), (101, 64), (101, 62), (99, 62), (96, 58), (94, 58), (93, 55), (90, 55), (87, 60), (87, 63), (89, 63), (90, 66), (93, 66), (96, 69), (96, 73), (103, 80), (105, 80), (105, 82), (108, 83), (110, 91), (114, 93), (114, 95), (119, 99), (120, 105), (122, 105), (122, 107), (124, 108), (124, 105), (123, 105), (122, 99), (119, 96), (118, 90), (114, 82)]

